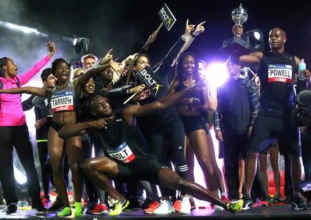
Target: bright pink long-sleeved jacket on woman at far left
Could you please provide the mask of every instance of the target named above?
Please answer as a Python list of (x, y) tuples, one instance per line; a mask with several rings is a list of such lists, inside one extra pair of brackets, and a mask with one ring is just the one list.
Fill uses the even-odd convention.
[[(37, 74), (46, 66), (46, 63), (50, 61), (50, 57), (46, 56), (41, 61), (35, 63), (32, 68), (23, 74), (19, 74), (20, 86), (28, 83), (32, 77)], [(7, 88), (17, 88), (17, 77), (5, 79), (0, 77), (3, 83), (3, 90)], [(0, 126), (22, 126), (26, 123), (25, 114), (21, 108), (21, 97), (20, 94), (0, 94), (1, 109), (0, 109)]]

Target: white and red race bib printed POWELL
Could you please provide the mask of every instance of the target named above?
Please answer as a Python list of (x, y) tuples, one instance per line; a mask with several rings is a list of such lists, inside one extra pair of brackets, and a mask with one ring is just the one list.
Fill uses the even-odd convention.
[(270, 64), (267, 68), (268, 82), (292, 83), (292, 66)]

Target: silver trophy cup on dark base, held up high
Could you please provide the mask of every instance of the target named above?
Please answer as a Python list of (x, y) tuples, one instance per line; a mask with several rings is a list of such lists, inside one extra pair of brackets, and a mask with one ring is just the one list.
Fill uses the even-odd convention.
[[(242, 4), (232, 11), (232, 20), (236, 25), (242, 25), (247, 20), (247, 11), (242, 7)], [(240, 57), (243, 54), (249, 54), (253, 48), (248, 41), (242, 39), (242, 36), (234, 36), (223, 41), (223, 46), (220, 48), (221, 52), (225, 54)]]

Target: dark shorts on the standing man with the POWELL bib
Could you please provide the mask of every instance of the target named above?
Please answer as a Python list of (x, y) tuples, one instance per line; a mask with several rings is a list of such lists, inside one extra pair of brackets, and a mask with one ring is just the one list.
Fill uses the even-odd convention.
[(299, 157), (299, 130), (294, 121), (294, 112), (282, 117), (259, 112), (249, 141), (249, 152), (264, 152), (275, 140), (280, 152)]

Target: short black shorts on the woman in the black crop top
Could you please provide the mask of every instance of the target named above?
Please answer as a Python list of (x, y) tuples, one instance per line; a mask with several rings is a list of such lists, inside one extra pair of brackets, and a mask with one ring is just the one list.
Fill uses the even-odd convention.
[[(207, 132), (207, 125), (200, 115), (198, 116), (181, 116), (185, 126), (186, 134), (190, 134), (195, 130), (203, 129)], [(208, 134), (208, 132), (207, 132)]]

